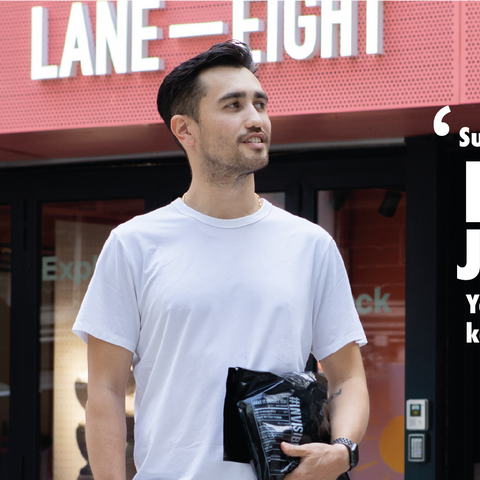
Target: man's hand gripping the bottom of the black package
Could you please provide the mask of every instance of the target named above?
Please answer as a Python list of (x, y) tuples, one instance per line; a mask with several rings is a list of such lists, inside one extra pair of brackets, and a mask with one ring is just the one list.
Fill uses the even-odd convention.
[(305, 443), (292, 445), (282, 442), (283, 453), (300, 457), (300, 465), (285, 476), (285, 480), (337, 480), (350, 468), (348, 449), (345, 445)]

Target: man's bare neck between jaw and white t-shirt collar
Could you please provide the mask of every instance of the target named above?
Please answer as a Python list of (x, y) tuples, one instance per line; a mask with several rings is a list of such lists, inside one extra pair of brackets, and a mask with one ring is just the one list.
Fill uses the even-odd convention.
[(192, 181), (183, 199), (197, 212), (223, 219), (246, 217), (260, 208), (253, 174), (235, 186)]

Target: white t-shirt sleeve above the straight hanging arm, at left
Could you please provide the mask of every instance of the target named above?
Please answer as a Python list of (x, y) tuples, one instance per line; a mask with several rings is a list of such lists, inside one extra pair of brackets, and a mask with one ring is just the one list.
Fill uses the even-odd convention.
[(115, 231), (98, 258), (73, 333), (86, 343), (92, 335), (135, 353), (140, 314), (132, 264)]

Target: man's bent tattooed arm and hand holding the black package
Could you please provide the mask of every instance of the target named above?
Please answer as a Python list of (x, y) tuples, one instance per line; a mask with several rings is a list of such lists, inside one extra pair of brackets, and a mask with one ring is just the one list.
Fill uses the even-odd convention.
[[(349, 343), (322, 360), (329, 385), (329, 413), (332, 440), (344, 437), (360, 443), (369, 416), (368, 391), (360, 348)], [(299, 446), (282, 443), (290, 456), (301, 457), (300, 465), (285, 480), (336, 480), (350, 468), (346, 446), (309, 443)]]

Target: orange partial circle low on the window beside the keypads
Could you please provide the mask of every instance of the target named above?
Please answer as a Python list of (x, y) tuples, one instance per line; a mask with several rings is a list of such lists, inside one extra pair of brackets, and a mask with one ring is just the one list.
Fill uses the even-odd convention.
[(380, 455), (383, 461), (398, 473), (405, 470), (405, 416), (392, 418), (380, 437)]

